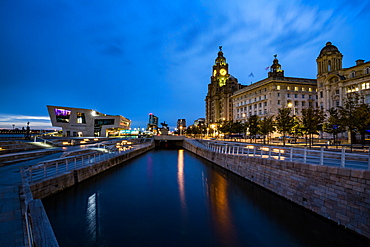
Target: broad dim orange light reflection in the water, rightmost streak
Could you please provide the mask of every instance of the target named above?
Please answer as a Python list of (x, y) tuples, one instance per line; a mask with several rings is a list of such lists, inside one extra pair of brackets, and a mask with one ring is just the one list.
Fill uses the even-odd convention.
[(209, 196), (215, 235), (219, 238), (219, 242), (225, 246), (239, 246), (228, 201), (227, 180), (217, 173), (210, 175), (206, 184), (209, 185), (207, 195)]

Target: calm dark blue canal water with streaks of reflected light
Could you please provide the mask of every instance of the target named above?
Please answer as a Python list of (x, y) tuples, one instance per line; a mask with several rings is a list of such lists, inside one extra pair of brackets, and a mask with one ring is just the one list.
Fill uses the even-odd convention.
[(61, 247), (370, 246), (184, 150), (157, 150), (43, 200)]

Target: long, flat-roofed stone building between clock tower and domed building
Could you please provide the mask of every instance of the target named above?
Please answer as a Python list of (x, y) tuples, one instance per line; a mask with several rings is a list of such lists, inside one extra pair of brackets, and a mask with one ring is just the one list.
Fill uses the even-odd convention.
[(316, 80), (285, 77), (277, 55), (268, 77), (236, 91), (231, 96), (233, 120), (245, 122), (251, 115), (260, 118), (277, 115), (278, 109), (291, 107), (300, 116), (303, 108), (316, 106)]

